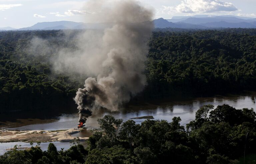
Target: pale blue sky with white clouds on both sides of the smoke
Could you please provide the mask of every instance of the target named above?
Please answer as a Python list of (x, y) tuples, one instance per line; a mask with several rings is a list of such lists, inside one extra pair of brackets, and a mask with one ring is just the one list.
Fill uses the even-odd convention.
[[(87, 0), (0, 0), (0, 27), (22, 28), (38, 22), (87, 22)], [(235, 15), (256, 18), (256, 0), (138, 0), (156, 18), (191, 15)]]

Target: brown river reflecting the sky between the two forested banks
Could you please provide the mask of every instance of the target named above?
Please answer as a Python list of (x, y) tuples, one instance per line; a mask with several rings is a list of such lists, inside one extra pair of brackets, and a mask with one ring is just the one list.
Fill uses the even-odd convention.
[[(236, 109), (242, 108), (254, 108), (256, 109), (256, 92), (244, 92), (241, 94), (227, 94), (227, 95), (215, 95), (212, 97), (197, 97), (197, 98), (184, 98), (184, 99), (165, 99), (155, 100), (150, 102), (137, 102), (129, 104), (126, 107), (120, 108), (117, 112), (100, 111), (97, 114), (93, 114), (88, 118), (85, 123), (83, 132), (76, 134), (75, 136), (90, 136), (91, 129), (98, 129), (98, 118), (102, 118), (104, 115), (110, 114), (118, 119), (124, 121), (132, 117), (140, 117), (152, 115), (155, 119), (164, 119), (168, 122), (172, 121), (174, 116), (180, 116), (182, 125), (186, 125), (189, 121), (195, 118), (195, 112), (203, 105), (212, 104), (215, 107), (217, 105), (229, 104)], [(26, 115), (26, 113), (22, 113)], [(30, 115), (30, 114), (28, 114)], [(44, 113), (47, 115), (47, 113)], [(5, 118), (4, 118), (5, 117)], [(35, 118), (35, 115), (31, 115), (31, 118), (19, 117), (17, 114), (2, 115), (0, 117), (0, 129), (7, 130), (61, 130), (74, 128), (78, 122), (77, 111), (65, 111), (57, 115), (51, 115), (42, 119), (42, 117)], [(9, 119), (8, 119), (9, 118)], [(4, 120), (4, 121), (1, 121)], [(145, 119), (134, 119), (136, 123), (140, 123)], [(57, 142), (56, 142), (57, 143)], [(0, 148), (1, 148), (0, 143)], [(61, 145), (61, 143), (57, 143)], [(13, 145), (13, 144), (12, 144)], [(67, 148), (67, 144), (65, 148)], [(10, 145), (7, 145), (10, 146)], [(61, 146), (60, 146), (61, 147)], [(1, 150), (0, 150), (1, 153)]]

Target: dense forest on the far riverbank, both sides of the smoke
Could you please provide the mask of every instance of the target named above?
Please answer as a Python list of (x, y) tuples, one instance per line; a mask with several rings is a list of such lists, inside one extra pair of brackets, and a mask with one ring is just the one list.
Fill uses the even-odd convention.
[[(54, 72), (49, 61), (58, 48), (75, 49), (80, 31), (0, 32), (0, 112), (74, 105), (86, 77)], [(53, 48), (28, 51), (35, 37)], [(148, 85), (138, 98), (256, 89), (256, 29), (157, 29), (148, 45)]]

